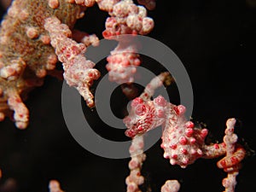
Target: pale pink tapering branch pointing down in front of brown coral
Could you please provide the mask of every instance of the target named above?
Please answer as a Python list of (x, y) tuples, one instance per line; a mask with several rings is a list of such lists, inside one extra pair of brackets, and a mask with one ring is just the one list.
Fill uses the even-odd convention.
[(85, 59), (86, 47), (73, 41), (68, 26), (61, 24), (56, 17), (47, 18), (44, 27), (49, 32), (50, 44), (55, 48), (55, 54), (63, 63), (64, 79), (67, 80), (67, 84), (79, 90), (88, 107), (94, 107), (90, 85), (93, 80), (100, 77), (100, 73), (92, 68), (95, 66), (92, 61)]

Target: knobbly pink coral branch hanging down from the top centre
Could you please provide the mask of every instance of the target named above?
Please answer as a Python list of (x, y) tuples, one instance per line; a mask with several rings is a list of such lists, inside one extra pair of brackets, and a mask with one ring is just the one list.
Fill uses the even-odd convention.
[(137, 44), (131, 37), (119, 37), (119, 35), (148, 34), (154, 27), (154, 20), (147, 17), (147, 10), (143, 6), (137, 6), (131, 0), (114, 4), (110, 15), (102, 35), (104, 38), (117, 40), (119, 44), (107, 59), (109, 80), (118, 84), (131, 83), (137, 66), (141, 64), (137, 54)]

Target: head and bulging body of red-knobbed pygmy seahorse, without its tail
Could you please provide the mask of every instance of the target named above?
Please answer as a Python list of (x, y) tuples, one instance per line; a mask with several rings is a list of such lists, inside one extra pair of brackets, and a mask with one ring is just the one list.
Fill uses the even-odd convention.
[(131, 102), (131, 108), (132, 113), (125, 118), (128, 137), (163, 125), (161, 148), (164, 148), (164, 157), (170, 159), (172, 165), (186, 167), (202, 156), (201, 146), (207, 129), (194, 128), (194, 124), (184, 118), (185, 108), (182, 105), (168, 103), (163, 96), (148, 102), (137, 97)]

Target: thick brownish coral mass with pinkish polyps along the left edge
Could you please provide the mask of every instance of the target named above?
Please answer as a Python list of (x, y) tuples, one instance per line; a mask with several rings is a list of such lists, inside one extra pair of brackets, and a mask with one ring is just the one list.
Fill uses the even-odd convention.
[(57, 6), (49, 2), (15, 0), (1, 24), (0, 120), (14, 111), (19, 128), (28, 124), (28, 110), (22, 102), (27, 92), (43, 84), (44, 76), (55, 70), (57, 62), (44, 20), (55, 15), (72, 28), (81, 12), (79, 5), (66, 0), (59, 0)]

